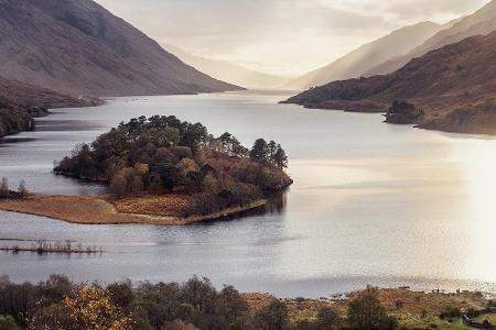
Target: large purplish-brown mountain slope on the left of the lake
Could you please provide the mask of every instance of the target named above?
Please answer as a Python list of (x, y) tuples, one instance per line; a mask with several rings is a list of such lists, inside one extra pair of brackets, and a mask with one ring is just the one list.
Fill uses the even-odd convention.
[(0, 0), (0, 76), (73, 95), (214, 92), (213, 79), (93, 0)]

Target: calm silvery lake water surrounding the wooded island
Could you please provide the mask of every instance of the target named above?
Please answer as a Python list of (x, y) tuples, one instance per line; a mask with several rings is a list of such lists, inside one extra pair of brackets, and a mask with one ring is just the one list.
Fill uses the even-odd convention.
[(0, 176), (40, 194), (98, 194), (51, 173), (53, 161), (120, 121), (175, 114), (247, 145), (263, 136), (290, 156), (281, 212), (185, 228), (76, 226), (0, 212), (0, 245), (73, 240), (103, 255), (0, 253), (0, 274), (41, 280), (185, 280), (281, 297), (363, 288), (495, 290), (496, 141), (381, 123), (379, 114), (305, 110), (256, 92), (118, 98), (56, 110), (0, 144)]

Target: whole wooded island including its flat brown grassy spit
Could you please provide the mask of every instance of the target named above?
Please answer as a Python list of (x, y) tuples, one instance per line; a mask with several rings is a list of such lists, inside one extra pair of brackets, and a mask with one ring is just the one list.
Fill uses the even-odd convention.
[(121, 122), (91, 144), (77, 145), (54, 172), (108, 186), (105, 197), (31, 196), (0, 208), (77, 223), (188, 224), (265, 206), (292, 184), (280, 144), (245, 147), (176, 117)]

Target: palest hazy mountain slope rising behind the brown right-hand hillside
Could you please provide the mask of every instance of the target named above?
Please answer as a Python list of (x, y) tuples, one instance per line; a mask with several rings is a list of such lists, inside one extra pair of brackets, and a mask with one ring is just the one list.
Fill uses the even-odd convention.
[(285, 87), (306, 89), (334, 80), (360, 77), (370, 68), (409, 53), (442, 29), (443, 25), (432, 22), (399, 29), (389, 35), (360, 46), (323, 68), (292, 80)]

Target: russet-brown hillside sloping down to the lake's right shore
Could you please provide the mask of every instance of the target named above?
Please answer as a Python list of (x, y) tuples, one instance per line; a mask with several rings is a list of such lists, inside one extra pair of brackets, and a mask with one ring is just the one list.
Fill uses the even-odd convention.
[(388, 120), (463, 133), (496, 134), (496, 32), (412, 59), (384, 76), (334, 81), (288, 100), (309, 108), (386, 112)]

